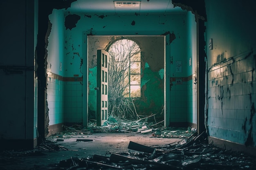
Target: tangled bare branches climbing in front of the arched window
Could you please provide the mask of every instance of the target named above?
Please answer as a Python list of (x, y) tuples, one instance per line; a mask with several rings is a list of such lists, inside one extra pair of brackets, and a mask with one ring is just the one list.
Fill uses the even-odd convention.
[(118, 119), (138, 119), (134, 98), (130, 96), (130, 73), (138, 69), (132, 67), (137, 61), (131, 59), (140, 54), (139, 46), (123, 39), (112, 44), (108, 52), (108, 114)]

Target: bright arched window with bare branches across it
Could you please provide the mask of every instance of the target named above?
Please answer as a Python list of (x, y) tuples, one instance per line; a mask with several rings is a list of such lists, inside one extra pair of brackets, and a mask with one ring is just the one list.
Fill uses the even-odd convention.
[(124, 97), (141, 96), (141, 53), (136, 42), (118, 40), (109, 49), (109, 91)]

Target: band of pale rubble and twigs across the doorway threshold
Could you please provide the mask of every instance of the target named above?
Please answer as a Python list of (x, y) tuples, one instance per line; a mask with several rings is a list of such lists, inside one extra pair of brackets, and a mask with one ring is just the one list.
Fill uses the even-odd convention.
[(90, 121), (88, 127), (85, 128), (82, 125), (64, 126), (63, 132), (58, 132), (48, 137), (53, 141), (63, 141), (70, 137), (77, 137), (80, 135), (81, 138), (91, 135), (94, 133), (141, 133), (152, 134), (152, 137), (161, 138), (185, 138), (196, 133), (195, 128), (164, 128), (163, 121), (158, 123), (148, 122), (146, 119), (139, 119), (137, 121), (124, 121), (117, 120), (115, 117), (108, 117), (108, 120), (104, 122), (103, 126), (96, 126), (95, 122)]

